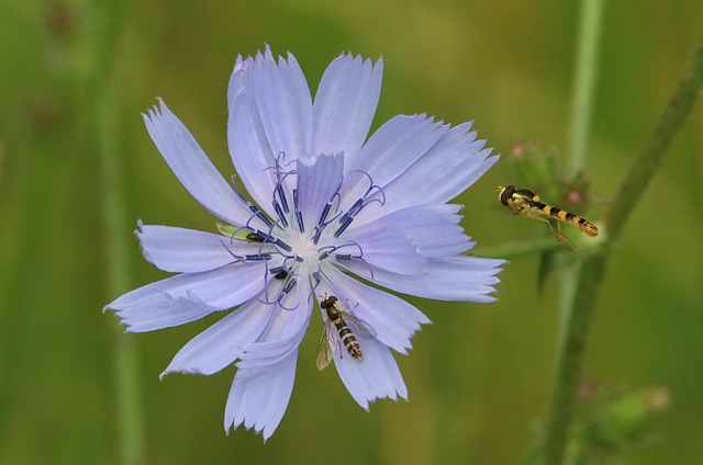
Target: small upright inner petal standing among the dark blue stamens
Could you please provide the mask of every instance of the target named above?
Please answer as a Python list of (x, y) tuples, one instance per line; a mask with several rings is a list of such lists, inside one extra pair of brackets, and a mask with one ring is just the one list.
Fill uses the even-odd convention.
[[(342, 185), (344, 156), (302, 157), (298, 159), (298, 203), (305, 230), (312, 231), (320, 216)], [(330, 212), (330, 218), (334, 212)]]

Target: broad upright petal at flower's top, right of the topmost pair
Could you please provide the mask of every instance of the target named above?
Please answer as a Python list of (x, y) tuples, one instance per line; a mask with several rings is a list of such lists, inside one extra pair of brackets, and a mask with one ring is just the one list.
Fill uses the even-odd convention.
[(344, 54), (330, 64), (313, 105), (312, 155), (344, 152), (347, 166), (354, 163), (373, 121), (382, 76), (382, 59), (373, 65)]

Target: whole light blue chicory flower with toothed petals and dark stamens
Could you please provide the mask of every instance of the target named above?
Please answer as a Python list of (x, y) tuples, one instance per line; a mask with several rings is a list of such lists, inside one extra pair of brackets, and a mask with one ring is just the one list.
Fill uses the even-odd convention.
[[(266, 47), (239, 56), (227, 90), (238, 175), (230, 181), (163, 101), (144, 115), (176, 177), (223, 223), (205, 232), (140, 222), (146, 260), (179, 274), (105, 308), (132, 332), (222, 315), (161, 376), (211, 375), (235, 364), (225, 431), (244, 424), (265, 440), (274, 433), (315, 306), (326, 325), (321, 350), (354, 399), (368, 409), (378, 398), (406, 398), (391, 349), (406, 353), (429, 319), (357, 277), (433, 299), (494, 299), (504, 261), (462, 254), (475, 243), (459, 226), (461, 206), (447, 202), (498, 157), (470, 123), (450, 127), (426, 115), (395, 116), (367, 140), (382, 68), (380, 59), (344, 54), (313, 100), (292, 54), (277, 60)], [(319, 356), (320, 367), (325, 362)]]

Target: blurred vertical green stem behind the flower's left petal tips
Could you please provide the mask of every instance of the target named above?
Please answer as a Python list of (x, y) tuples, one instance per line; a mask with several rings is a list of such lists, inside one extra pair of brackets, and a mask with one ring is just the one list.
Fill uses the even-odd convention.
[[(94, 1), (86, 31), (87, 48), (83, 84), (87, 92), (85, 107), (88, 122), (97, 134), (97, 152), (102, 177), (102, 211), (105, 234), (108, 292), (114, 297), (130, 288), (129, 243), (125, 225), (125, 192), (120, 150), (119, 103), (114, 95), (114, 57), (118, 56), (122, 2)], [(87, 123), (89, 124), (89, 123)], [(85, 127), (86, 124), (81, 125)], [(114, 318), (115, 419), (120, 463), (136, 465), (144, 462), (144, 429), (140, 401), (138, 365), (135, 341), (124, 336)]]

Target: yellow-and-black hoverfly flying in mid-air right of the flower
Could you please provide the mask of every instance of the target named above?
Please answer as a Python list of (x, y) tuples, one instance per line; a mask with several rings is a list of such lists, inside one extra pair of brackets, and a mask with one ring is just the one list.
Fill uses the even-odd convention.
[(527, 189), (518, 189), (514, 185), (507, 188), (498, 186), (498, 199), (505, 205), (511, 213), (515, 215), (524, 215), (538, 222), (546, 223), (551, 230), (554, 237), (567, 249), (573, 249), (576, 246), (561, 232), (561, 224), (557, 222), (557, 230), (554, 229), (549, 218), (556, 218), (560, 222), (571, 223), (590, 237), (598, 236), (598, 228), (592, 223), (581, 218), (573, 213), (547, 205), (540, 202), (539, 195)]

